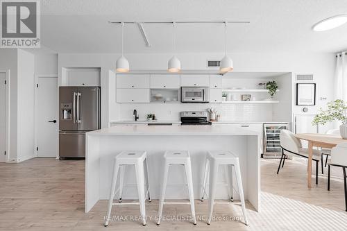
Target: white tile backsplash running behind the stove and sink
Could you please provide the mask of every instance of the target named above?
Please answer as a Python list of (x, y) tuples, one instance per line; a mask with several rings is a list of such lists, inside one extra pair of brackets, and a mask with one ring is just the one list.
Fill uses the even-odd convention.
[(136, 109), (139, 119), (154, 113), (158, 120), (180, 120), (181, 111), (200, 111), (216, 108), (221, 121), (272, 121), (271, 104), (214, 104), (214, 103), (124, 103), (120, 104), (119, 120), (132, 120)]

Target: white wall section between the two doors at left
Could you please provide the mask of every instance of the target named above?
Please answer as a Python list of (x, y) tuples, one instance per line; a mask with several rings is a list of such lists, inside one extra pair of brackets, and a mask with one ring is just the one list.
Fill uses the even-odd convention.
[(0, 49), (0, 69), (10, 69), (9, 161), (34, 157), (34, 55)]

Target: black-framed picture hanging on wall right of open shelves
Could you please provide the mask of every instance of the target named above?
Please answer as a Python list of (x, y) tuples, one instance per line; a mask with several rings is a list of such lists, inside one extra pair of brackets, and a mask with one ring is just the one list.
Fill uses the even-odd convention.
[(316, 83), (296, 83), (296, 105), (316, 105)]

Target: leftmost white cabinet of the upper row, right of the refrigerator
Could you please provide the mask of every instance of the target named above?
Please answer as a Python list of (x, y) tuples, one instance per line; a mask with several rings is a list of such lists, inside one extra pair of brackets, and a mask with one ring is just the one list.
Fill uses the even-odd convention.
[(117, 74), (117, 88), (149, 88), (149, 74)]

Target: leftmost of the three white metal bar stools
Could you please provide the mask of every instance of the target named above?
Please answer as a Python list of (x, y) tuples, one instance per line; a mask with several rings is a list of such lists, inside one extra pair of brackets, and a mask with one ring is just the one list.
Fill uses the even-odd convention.
[[(139, 195), (139, 202), (137, 203), (121, 203), (121, 196), (124, 189), (124, 172), (126, 170), (126, 166), (128, 165), (135, 166), (137, 192)], [(144, 171), (144, 169), (146, 171)], [(120, 171), (119, 188), (116, 190), (118, 171)], [(145, 178), (146, 184), (144, 182)], [(144, 185), (147, 185), (146, 191), (144, 189)], [(113, 200), (117, 192), (119, 192), (119, 203), (113, 203)], [(146, 151), (122, 151), (121, 153), (119, 153), (119, 155), (115, 157), (110, 199), (108, 200), (108, 214), (105, 221), (105, 226), (108, 226), (108, 223), (110, 221), (112, 205), (139, 205), (139, 210), (142, 218), (142, 225), (146, 225), (146, 209), (144, 202), (147, 196), (149, 202), (151, 202), (151, 196), (149, 194), (149, 172)]]

